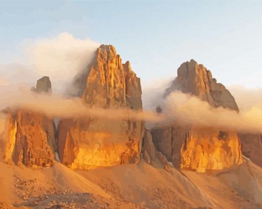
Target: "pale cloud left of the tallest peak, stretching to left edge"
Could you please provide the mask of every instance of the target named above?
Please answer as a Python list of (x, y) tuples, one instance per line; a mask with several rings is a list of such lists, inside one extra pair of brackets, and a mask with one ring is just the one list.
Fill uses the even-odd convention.
[(22, 45), (23, 60), (28, 61), (23, 64), (0, 63), (0, 78), (10, 85), (32, 85), (41, 77), (49, 76), (53, 90), (58, 91), (64, 90), (78, 73), (87, 68), (99, 47), (88, 38), (77, 39), (66, 32), (55, 37), (27, 40)]

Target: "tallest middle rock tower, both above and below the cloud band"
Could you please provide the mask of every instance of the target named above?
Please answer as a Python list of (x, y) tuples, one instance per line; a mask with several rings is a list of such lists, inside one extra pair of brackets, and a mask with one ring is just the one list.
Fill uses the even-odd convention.
[[(129, 62), (122, 64), (116, 49), (101, 45), (86, 79), (77, 81), (77, 92), (88, 107), (142, 109), (140, 79)], [(59, 125), (58, 151), (72, 169), (137, 163), (141, 153), (143, 123), (107, 118), (74, 118)]]

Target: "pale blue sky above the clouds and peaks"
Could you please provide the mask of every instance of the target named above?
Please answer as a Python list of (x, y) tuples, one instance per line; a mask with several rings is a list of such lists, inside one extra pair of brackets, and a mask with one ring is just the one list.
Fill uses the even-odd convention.
[(142, 86), (191, 59), (226, 86), (262, 87), (262, 1), (1, 1), (0, 64), (32, 40), (69, 33), (112, 44)]

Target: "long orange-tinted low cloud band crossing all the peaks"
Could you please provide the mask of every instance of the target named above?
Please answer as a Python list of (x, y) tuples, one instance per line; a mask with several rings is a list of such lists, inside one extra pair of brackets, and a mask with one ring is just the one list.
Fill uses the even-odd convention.
[[(3, 90), (3, 89), (2, 89)], [(79, 98), (64, 98), (62, 94), (36, 94), (26, 87), (2, 91), (0, 108), (25, 109), (41, 112), (49, 117), (79, 118), (96, 117), (112, 120), (143, 120), (149, 126), (162, 127), (171, 124), (210, 127), (238, 132), (262, 132), (262, 106), (251, 106), (237, 113), (222, 107), (211, 107), (207, 102), (180, 91), (172, 92), (160, 104), (161, 113), (154, 109), (135, 111), (131, 109), (88, 108)], [(157, 106), (159, 103), (155, 103)]]

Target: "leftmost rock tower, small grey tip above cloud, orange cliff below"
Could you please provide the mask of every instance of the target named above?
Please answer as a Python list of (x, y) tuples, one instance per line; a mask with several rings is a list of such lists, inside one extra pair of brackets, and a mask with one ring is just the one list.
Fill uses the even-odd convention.
[[(36, 85), (37, 92), (49, 92), (48, 86)], [(5, 161), (28, 167), (51, 166), (55, 149), (53, 120), (41, 113), (23, 109), (8, 111), (7, 118)]]

